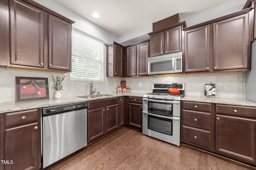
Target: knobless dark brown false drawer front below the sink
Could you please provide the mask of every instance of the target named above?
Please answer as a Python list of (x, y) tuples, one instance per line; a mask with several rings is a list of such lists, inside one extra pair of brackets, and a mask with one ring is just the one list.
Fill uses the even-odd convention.
[(114, 104), (118, 104), (118, 98), (94, 100), (94, 101), (88, 102), (88, 109), (94, 109), (94, 108), (104, 107), (104, 106), (109, 106)]

